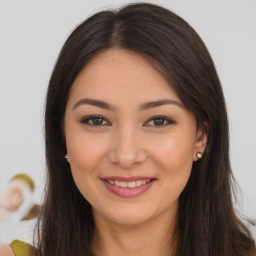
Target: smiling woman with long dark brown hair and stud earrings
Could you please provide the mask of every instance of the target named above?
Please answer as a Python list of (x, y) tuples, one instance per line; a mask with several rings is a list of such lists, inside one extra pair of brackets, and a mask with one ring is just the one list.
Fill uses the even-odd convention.
[(132, 4), (73, 31), (49, 83), (45, 137), (33, 255), (255, 253), (232, 204), (214, 64), (169, 10)]

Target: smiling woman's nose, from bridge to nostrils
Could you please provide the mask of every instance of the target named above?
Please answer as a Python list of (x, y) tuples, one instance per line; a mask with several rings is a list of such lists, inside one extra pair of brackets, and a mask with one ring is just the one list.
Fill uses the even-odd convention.
[(129, 169), (143, 163), (146, 158), (142, 136), (135, 127), (126, 125), (113, 134), (108, 150), (108, 159), (113, 164), (119, 165), (122, 169)]

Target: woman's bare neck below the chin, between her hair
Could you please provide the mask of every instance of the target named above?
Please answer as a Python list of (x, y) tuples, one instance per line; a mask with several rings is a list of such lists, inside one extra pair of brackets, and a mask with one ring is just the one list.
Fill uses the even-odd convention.
[[(95, 217), (95, 216), (94, 216)], [(174, 215), (139, 225), (120, 225), (97, 218), (92, 245), (95, 256), (174, 254)]]

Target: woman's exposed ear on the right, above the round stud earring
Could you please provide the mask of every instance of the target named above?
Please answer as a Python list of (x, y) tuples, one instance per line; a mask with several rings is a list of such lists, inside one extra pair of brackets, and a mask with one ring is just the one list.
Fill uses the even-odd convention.
[(196, 162), (199, 160), (197, 153), (202, 153), (204, 155), (205, 148), (207, 146), (207, 127), (208, 125), (204, 124), (202, 128), (197, 130), (195, 145), (193, 151), (193, 161)]

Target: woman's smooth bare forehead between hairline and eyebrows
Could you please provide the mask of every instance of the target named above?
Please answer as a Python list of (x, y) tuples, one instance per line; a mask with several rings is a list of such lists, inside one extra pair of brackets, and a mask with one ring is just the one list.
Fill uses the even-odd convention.
[(171, 97), (179, 101), (171, 85), (141, 54), (112, 48), (95, 55), (76, 77), (70, 98), (82, 96), (110, 101), (150, 101)]

